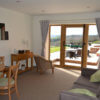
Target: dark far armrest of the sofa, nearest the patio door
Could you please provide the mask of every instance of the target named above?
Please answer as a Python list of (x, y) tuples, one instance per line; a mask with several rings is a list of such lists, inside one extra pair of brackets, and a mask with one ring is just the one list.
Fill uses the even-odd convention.
[(83, 68), (81, 71), (81, 75), (84, 77), (90, 77), (96, 71), (97, 69)]

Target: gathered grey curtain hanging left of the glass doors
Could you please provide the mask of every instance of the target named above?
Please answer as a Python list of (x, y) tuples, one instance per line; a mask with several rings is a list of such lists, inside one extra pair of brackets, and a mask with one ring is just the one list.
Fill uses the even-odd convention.
[(41, 34), (42, 34), (42, 50), (41, 50), (41, 56), (45, 56), (45, 42), (48, 34), (49, 29), (49, 21), (48, 20), (41, 20)]

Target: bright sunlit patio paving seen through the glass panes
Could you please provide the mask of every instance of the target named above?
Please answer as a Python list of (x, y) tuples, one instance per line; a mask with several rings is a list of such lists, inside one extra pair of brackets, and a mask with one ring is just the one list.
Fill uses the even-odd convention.
[[(89, 47), (91, 48), (91, 47)], [(99, 48), (100, 49), (100, 48)], [(99, 53), (100, 54), (100, 53)], [(97, 53), (89, 53), (89, 56), (87, 57), (87, 62), (88, 63), (98, 63), (99, 62), (99, 58), (100, 56), (97, 56)], [(50, 54), (50, 60), (54, 60), (54, 59), (60, 59), (60, 51), (54, 52)], [(72, 61), (81, 61), (81, 57), (66, 57), (66, 60), (72, 60)], [(60, 62), (55, 62), (55, 64), (59, 65)], [(73, 66), (79, 66), (81, 67), (81, 64), (77, 64), (77, 63), (69, 63), (69, 62), (65, 62), (65, 65), (73, 65)], [(97, 65), (87, 65), (87, 68), (98, 68), (98, 64)]]

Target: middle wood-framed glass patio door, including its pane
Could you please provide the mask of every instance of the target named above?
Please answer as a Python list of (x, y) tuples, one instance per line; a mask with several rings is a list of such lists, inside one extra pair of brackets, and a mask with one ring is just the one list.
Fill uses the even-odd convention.
[(81, 68), (86, 66), (87, 29), (86, 25), (63, 26), (62, 66)]

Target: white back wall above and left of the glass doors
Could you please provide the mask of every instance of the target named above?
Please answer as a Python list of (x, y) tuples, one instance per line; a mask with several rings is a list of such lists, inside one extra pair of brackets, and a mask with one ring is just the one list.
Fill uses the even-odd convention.
[(33, 16), (33, 52), (41, 54), (40, 20), (49, 20), (50, 24), (93, 24), (95, 23), (95, 18), (99, 17), (100, 12)]

